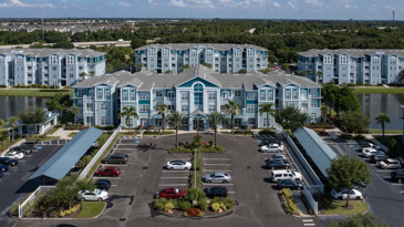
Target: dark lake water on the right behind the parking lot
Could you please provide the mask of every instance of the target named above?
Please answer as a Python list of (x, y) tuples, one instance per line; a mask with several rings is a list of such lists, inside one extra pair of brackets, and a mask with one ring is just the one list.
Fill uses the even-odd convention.
[(381, 124), (374, 121), (380, 113), (390, 116), (386, 130), (403, 130), (402, 109), (404, 94), (356, 94), (364, 115), (370, 117), (370, 128), (382, 128)]

